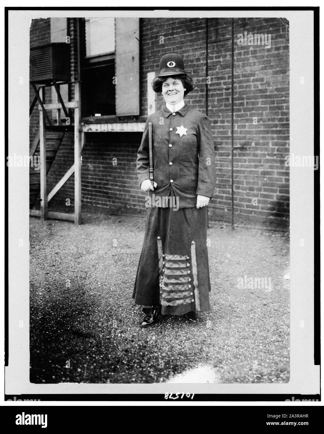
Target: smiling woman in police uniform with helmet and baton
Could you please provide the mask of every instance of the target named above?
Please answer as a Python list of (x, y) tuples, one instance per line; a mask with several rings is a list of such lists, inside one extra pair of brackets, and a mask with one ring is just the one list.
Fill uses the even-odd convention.
[[(149, 192), (133, 292), (135, 304), (150, 306), (143, 309), (142, 327), (164, 315), (196, 322), (196, 311), (210, 309), (206, 207), (216, 181), (213, 136), (207, 116), (183, 100), (195, 83), (181, 56), (161, 57), (159, 69), (152, 85), (166, 104), (148, 116), (137, 153), (141, 189)], [(149, 180), (149, 122), (154, 187)]]

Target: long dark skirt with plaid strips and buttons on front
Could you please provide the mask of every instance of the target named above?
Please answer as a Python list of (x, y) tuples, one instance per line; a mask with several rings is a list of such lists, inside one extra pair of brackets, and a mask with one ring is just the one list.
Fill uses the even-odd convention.
[(160, 305), (162, 315), (210, 309), (206, 217), (206, 207), (147, 208), (135, 304)]

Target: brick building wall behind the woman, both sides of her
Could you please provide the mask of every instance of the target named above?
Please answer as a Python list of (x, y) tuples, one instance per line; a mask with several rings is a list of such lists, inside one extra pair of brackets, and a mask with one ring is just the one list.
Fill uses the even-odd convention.
[[(239, 46), (237, 34), (271, 33), (271, 47)], [(70, 24), (71, 43), (75, 23)], [(160, 44), (160, 36), (164, 43)], [(32, 36), (31, 36), (32, 37)], [(231, 19), (208, 20), (208, 107), (206, 108), (206, 20), (141, 19), (141, 115), (147, 115), (147, 72), (158, 71), (160, 55), (183, 56), (197, 88), (186, 102), (208, 114), (215, 151), (217, 184), (211, 219), (231, 216)], [(234, 211), (235, 220), (270, 227), (288, 226), (289, 45), (288, 22), (276, 18), (235, 20), (234, 27)], [(157, 110), (164, 100), (157, 95)], [(55, 185), (73, 164), (73, 136), (66, 135), (49, 183)], [(87, 133), (82, 155), (84, 209), (143, 212), (144, 196), (135, 171), (141, 134)], [(112, 165), (117, 158), (117, 166)], [(63, 169), (64, 164), (64, 169)], [(73, 198), (73, 177), (50, 202), (61, 207)]]

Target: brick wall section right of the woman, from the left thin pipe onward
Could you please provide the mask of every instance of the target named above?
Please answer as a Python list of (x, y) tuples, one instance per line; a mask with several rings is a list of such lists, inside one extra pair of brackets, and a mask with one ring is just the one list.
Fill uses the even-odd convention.
[[(216, 20), (215, 20), (216, 21)], [(211, 23), (216, 38), (230, 34), (228, 20)], [(289, 171), (285, 155), (289, 153), (289, 45), (288, 23), (279, 19), (244, 19), (235, 23), (234, 40), (239, 33), (271, 33), (271, 47), (234, 45), (234, 210), (237, 220), (260, 221), (270, 226), (288, 225)], [(218, 49), (222, 48), (222, 49)], [(230, 83), (229, 44), (216, 43), (209, 75), (216, 86)], [(224, 54), (226, 53), (226, 54)], [(225, 60), (225, 62), (224, 62)], [(217, 65), (213, 69), (214, 63)], [(227, 135), (230, 113), (215, 113), (213, 104), (226, 109), (229, 91), (210, 92), (209, 117), (216, 140)], [(254, 122), (253, 122), (254, 121)], [(257, 122), (257, 123), (256, 123)], [(219, 180), (216, 199), (229, 205), (230, 143), (221, 137), (216, 144)], [(218, 160), (218, 161), (217, 161)], [(223, 184), (223, 185), (222, 185)], [(220, 214), (218, 210), (215, 210)], [(226, 217), (226, 212), (224, 213)]]

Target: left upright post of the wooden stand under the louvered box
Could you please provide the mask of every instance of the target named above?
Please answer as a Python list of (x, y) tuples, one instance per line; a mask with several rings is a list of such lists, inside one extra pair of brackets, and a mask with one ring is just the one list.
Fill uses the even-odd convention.
[[(42, 87), (42, 99), (45, 101), (45, 88)], [(43, 102), (42, 102), (43, 103)], [(41, 219), (47, 218), (47, 195), (46, 195), (46, 131), (45, 113), (39, 112), (39, 154), (40, 154), (40, 213)]]

